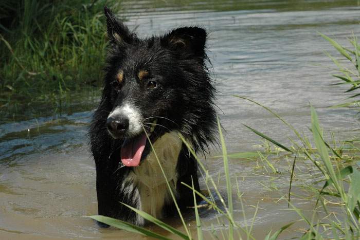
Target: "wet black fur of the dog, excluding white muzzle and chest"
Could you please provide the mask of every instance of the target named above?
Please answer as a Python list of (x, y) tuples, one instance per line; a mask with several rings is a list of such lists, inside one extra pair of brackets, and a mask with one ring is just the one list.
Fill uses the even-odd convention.
[[(109, 48), (106, 57), (104, 88), (100, 104), (94, 113), (89, 136), (91, 151), (96, 163), (96, 188), (99, 215), (110, 216), (134, 223), (135, 213), (120, 202), (135, 206), (130, 197), (124, 197), (119, 186), (131, 168), (120, 161), (121, 139), (114, 139), (106, 129), (109, 113), (124, 100), (131, 100), (144, 118), (158, 118), (154, 133), (161, 136), (176, 130), (190, 140), (194, 149), (207, 150), (214, 141), (216, 115), (214, 88), (208, 75), (205, 52), (207, 34), (198, 27), (184, 27), (161, 36), (141, 39), (116, 19), (105, 7)], [(115, 76), (123, 69), (124, 78), (120, 91), (114, 89)], [(137, 73), (146, 69), (149, 76), (140, 81)], [(150, 80), (157, 82), (156, 89), (147, 89)], [(114, 83), (115, 82), (115, 83)], [(167, 118), (167, 119), (165, 119)], [(149, 120), (150, 122), (150, 120)], [(146, 126), (146, 122), (143, 123)], [(160, 126), (162, 125), (162, 126)], [(196, 160), (186, 146), (178, 157), (177, 198), (181, 208), (193, 205), (191, 176), (199, 190)], [(132, 194), (131, 194), (132, 195)], [(173, 212), (173, 206), (164, 211)]]

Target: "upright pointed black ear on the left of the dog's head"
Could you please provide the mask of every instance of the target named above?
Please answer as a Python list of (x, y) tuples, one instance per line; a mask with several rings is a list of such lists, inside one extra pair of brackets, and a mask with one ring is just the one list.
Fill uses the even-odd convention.
[(110, 41), (118, 44), (131, 44), (134, 36), (129, 28), (120, 22), (115, 14), (106, 6), (104, 7), (104, 13), (106, 16), (107, 36)]

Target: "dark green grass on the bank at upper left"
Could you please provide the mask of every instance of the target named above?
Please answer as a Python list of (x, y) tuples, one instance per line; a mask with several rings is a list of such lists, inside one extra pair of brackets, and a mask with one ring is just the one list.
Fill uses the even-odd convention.
[[(0, 114), (30, 105), (62, 107), (103, 75), (103, 6), (118, 1), (4, 0), (0, 3)], [(35, 111), (35, 110), (34, 110)]]

